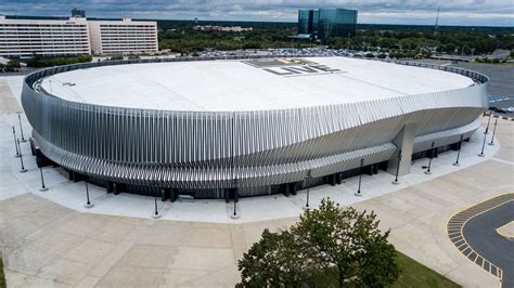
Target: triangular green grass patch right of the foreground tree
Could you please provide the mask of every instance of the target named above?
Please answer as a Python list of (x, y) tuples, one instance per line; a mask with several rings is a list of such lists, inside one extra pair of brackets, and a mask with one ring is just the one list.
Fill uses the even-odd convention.
[(393, 287), (461, 287), (439, 273), (417, 263), (407, 256), (398, 253), (401, 273)]

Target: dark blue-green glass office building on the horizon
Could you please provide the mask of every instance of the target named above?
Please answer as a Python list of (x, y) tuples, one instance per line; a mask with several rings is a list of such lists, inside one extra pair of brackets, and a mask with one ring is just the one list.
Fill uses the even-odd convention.
[(314, 35), (321, 41), (331, 37), (354, 36), (357, 30), (357, 10), (319, 9), (298, 11), (298, 34)]

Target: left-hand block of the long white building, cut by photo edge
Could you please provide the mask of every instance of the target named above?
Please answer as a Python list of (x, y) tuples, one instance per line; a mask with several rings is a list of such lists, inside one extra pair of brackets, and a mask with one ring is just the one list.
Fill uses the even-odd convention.
[(85, 18), (10, 19), (0, 15), (0, 56), (90, 54)]

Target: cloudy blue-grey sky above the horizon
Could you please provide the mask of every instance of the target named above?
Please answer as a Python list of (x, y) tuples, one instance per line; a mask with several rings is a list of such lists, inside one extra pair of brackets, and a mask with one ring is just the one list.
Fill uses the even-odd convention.
[(514, 0), (0, 0), (0, 14), (88, 17), (296, 22), (298, 9), (348, 8), (358, 23), (514, 26)]

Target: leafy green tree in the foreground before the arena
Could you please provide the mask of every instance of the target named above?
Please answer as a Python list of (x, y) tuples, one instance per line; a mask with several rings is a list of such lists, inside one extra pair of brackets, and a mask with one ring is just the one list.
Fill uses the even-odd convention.
[(330, 199), (300, 215), (291, 231), (265, 230), (239, 261), (242, 287), (384, 287), (399, 276), (389, 231), (378, 230), (376, 214), (339, 209)]

